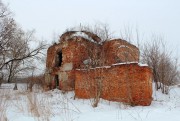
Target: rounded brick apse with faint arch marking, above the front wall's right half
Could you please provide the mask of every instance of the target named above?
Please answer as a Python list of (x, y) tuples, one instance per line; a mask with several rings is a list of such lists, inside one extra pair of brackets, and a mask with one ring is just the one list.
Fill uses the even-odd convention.
[(105, 64), (138, 62), (139, 49), (125, 40), (114, 39), (103, 43)]

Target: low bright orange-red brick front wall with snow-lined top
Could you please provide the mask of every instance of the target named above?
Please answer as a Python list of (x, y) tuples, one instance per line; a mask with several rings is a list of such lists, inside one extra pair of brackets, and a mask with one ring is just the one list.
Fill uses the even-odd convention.
[(75, 95), (77, 98), (100, 97), (131, 105), (150, 105), (152, 100), (152, 72), (138, 64), (116, 65), (111, 68), (77, 70)]

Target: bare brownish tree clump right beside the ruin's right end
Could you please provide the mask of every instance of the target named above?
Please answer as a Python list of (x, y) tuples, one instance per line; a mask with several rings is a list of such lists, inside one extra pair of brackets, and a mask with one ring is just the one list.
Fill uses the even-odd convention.
[(163, 38), (153, 36), (151, 43), (144, 45), (142, 61), (152, 68), (156, 89), (168, 94), (169, 86), (178, 81), (178, 60), (167, 51)]

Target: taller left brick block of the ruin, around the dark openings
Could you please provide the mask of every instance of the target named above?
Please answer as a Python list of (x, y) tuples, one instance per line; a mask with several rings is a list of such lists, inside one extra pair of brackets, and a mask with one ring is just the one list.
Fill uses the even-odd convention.
[[(94, 44), (82, 37), (74, 37), (68, 41), (63, 41), (59, 44), (54, 44), (47, 51), (46, 61), (46, 84), (55, 87), (55, 75), (59, 76), (59, 88), (63, 90), (73, 90), (76, 68), (84, 68), (84, 60), (89, 58), (89, 53), (97, 51), (97, 44)], [(62, 64), (56, 66), (57, 53), (62, 52)], [(67, 65), (72, 64), (72, 68), (67, 70)], [(69, 68), (69, 67), (68, 67)], [(62, 75), (66, 74), (65, 78)]]

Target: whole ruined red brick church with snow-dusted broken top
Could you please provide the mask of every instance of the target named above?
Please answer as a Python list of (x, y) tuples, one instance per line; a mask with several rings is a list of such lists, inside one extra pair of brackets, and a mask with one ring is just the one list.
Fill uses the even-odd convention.
[(82, 99), (152, 101), (152, 71), (139, 64), (139, 49), (122, 39), (102, 41), (88, 31), (67, 31), (48, 48), (45, 84), (46, 89), (74, 90)]

